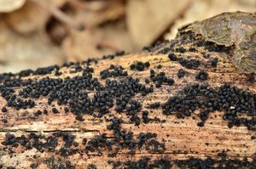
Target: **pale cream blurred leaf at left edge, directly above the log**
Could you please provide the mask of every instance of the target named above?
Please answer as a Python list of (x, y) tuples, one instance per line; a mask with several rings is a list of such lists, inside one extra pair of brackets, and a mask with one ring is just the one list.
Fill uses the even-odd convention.
[(64, 61), (61, 49), (44, 32), (24, 37), (0, 23), (0, 72), (36, 69)]

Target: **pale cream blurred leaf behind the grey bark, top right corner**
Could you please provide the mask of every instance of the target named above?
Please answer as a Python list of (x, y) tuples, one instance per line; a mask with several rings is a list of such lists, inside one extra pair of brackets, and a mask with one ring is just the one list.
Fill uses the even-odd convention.
[(255, 0), (195, 0), (183, 15), (183, 18), (176, 20), (171, 32), (166, 34), (166, 39), (173, 39), (177, 34), (177, 28), (195, 20), (204, 20), (224, 12), (255, 12), (255, 10)]

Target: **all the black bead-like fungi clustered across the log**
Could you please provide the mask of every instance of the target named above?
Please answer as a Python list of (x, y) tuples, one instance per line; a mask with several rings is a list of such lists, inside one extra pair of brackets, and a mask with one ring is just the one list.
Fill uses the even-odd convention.
[[(193, 39), (191, 34), (184, 36), (180, 40), (182, 45), (185, 42)], [(195, 46), (204, 46), (209, 52), (224, 52), (227, 53), (228, 49), (224, 47), (215, 46), (210, 42), (195, 41)], [(158, 54), (166, 54), (171, 61), (178, 62), (185, 69), (199, 69), (201, 62), (197, 59), (183, 59), (177, 57), (176, 53), (183, 54), (185, 52), (195, 52), (196, 49), (191, 47), (174, 48), (177, 42), (167, 42), (166, 46), (162, 48), (162, 44), (154, 45), (152, 48), (144, 48), (148, 51), (158, 50)], [(160, 48), (160, 49), (159, 49)], [(121, 56), (124, 52), (103, 56), (102, 59), (113, 59), (114, 57)], [(206, 55), (206, 54), (204, 54)], [(150, 76), (141, 82), (139, 78), (129, 76), (127, 70), (119, 65), (110, 65), (106, 70), (100, 72), (102, 84), (99, 79), (93, 76), (94, 69), (89, 65), (97, 63), (98, 59), (88, 59), (82, 64), (67, 63), (63, 65), (68, 67), (70, 73), (81, 72), (81, 75), (73, 77), (60, 78), (61, 75), (59, 66), (49, 66), (40, 68), (38, 70), (23, 70), (18, 74), (5, 73), (0, 75), (0, 93), (7, 101), (7, 104), (2, 107), (3, 115), (9, 112), (9, 107), (15, 110), (26, 110), (35, 107), (37, 99), (40, 97), (47, 98), (48, 104), (52, 105), (54, 114), (61, 113), (61, 110), (55, 108), (54, 104), (59, 104), (64, 107), (65, 113), (72, 112), (76, 120), (84, 121), (84, 115), (93, 115), (95, 118), (110, 114), (110, 109), (118, 114), (124, 114), (128, 117), (130, 123), (139, 126), (141, 122), (148, 123), (149, 121), (165, 122), (155, 117), (150, 119), (148, 117), (149, 111), (154, 109), (161, 109), (164, 115), (177, 115), (177, 118), (185, 118), (191, 116), (195, 110), (200, 110), (200, 119), (198, 122), (199, 127), (203, 127), (210, 113), (214, 111), (224, 111), (223, 119), (228, 121), (228, 127), (246, 126), (248, 130), (255, 131), (256, 128), (256, 94), (250, 93), (237, 87), (232, 87), (223, 84), (221, 87), (212, 88), (207, 85), (208, 74), (206, 70), (198, 70), (195, 75), (195, 80), (199, 83), (189, 84), (184, 87), (177, 94), (166, 100), (165, 103), (155, 102), (145, 107), (148, 110), (143, 110), (143, 105), (134, 99), (137, 94), (142, 96), (154, 92), (154, 85), (149, 84), (154, 82), (155, 87), (162, 85), (172, 86), (175, 82), (171, 77), (166, 76), (164, 71), (156, 73), (157, 70), (149, 70)], [(218, 59), (211, 59), (210, 64), (212, 67), (218, 65)], [(84, 68), (81, 65), (84, 66)], [(137, 61), (130, 65), (130, 69), (134, 71), (148, 70), (150, 67), (149, 62)], [(162, 66), (158, 65), (157, 69)], [(21, 78), (30, 75), (47, 75), (55, 73), (55, 77), (44, 77), (41, 79), (26, 80)], [(182, 78), (186, 75), (183, 69), (177, 70), (177, 77)], [(115, 78), (117, 77), (117, 78)], [(92, 97), (89, 93), (94, 93)], [(143, 112), (140, 116), (139, 112)], [(35, 116), (47, 115), (49, 110), (36, 110)], [(243, 117), (241, 117), (243, 115)], [(250, 117), (250, 118), (246, 118)], [(1, 143), (6, 145), (5, 150), (9, 149), (8, 145), (13, 147), (23, 146), (26, 149), (38, 149), (40, 152), (50, 151), (54, 152), (58, 145), (58, 140), (61, 138), (64, 142), (61, 149), (58, 150), (59, 155), (68, 156), (76, 153), (97, 152), (97, 155), (102, 155), (102, 150), (108, 149), (108, 156), (113, 157), (118, 154), (120, 149), (130, 149), (129, 154), (134, 155), (137, 149), (146, 149), (149, 153), (162, 154), (165, 152), (166, 147), (164, 142), (159, 142), (157, 134), (153, 132), (141, 132), (136, 137), (132, 131), (125, 131), (122, 129), (121, 124), (124, 122), (122, 118), (117, 118), (109, 115), (108, 130), (113, 131), (113, 138), (108, 138), (106, 133), (96, 136), (90, 140), (84, 138), (84, 149), (79, 149), (79, 144), (75, 142), (75, 136), (69, 132), (55, 132), (46, 137), (36, 133), (28, 135), (21, 135), (15, 137), (14, 134), (6, 134), (5, 140)], [(8, 120), (3, 118), (3, 123), (8, 124)], [(230, 167), (240, 168), (241, 166), (248, 166), (255, 168), (255, 159), (247, 161), (244, 159), (232, 160), (229, 158), (221, 157), (221, 159), (196, 159), (190, 158), (184, 161), (169, 161), (165, 157), (158, 160), (150, 160), (150, 157), (142, 157), (138, 161), (108, 161), (113, 165), (113, 168), (123, 166), (124, 168), (171, 168), (173, 164), (183, 167), (199, 167), (199, 168), (214, 168), (214, 167)], [(69, 163), (68, 163), (69, 164)], [(38, 166), (32, 163), (32, 168)], [(93, 164), (90, 168), (96, 168)], [(1, 164), (0, 164), (1, 168)], [(10, 166), (11, 168), (11, 166)], [(64, 167), (65, 168), (65, 167)], [(69, 164), (67, 168), (74, 168)]]

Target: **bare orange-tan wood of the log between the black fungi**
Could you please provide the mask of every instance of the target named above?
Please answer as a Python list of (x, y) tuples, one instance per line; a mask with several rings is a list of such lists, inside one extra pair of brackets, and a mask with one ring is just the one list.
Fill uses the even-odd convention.
[[(183, 48), (185, 48), (186, 51), (183, 51)], [(216, 52), (217, 49), (219, 49), (218, 52)], [(191, 157), (205, 159), (207, 156), (218, 160), (224, 158), (223, 161), (218, 161), (212, 166), (227, 165), (228, 162), (225, 163), (224, 161), (229, 161), (230, 159), (244, 161), (244, 158), (247, 158), (251, 166), (255, 166), (256, 135), (255, 126), (253, 126), (255, 123), (251, 126), (241, 124), (240, 127), (233, 124), (234, 126), (230, 127), (230, 121), (223, 120), (224, 110), (214, 110), (211, 112), (203, 127), (198, 126), (198, 122), (201, 121), (199, 114), (202, 110), (199, 108), (192, 111), (189, 116), (175, 112), (171, 113), (171, 115), (163, 114), (165, 110), (163, 106), (170, 97), (175, 95), (184, 96), (186, 93), (181, 93), (183, 88), (195, 83), (202, 85), (206, 82), (209, 87), (213, 89), (224, 84), (230, 84), (232, 87), (247, 91), (253, 94), (253, 104), (255, 106), (256, 86), (255, 82), (253, 82), (254, 76), (246, 75), (236, 70), (236, 67), (232, 64), (230, 59), (233, 50), (233, 48), (224, 48), (214, 43), (203, 42), (201, 37), (195, 37), (195, 35), (191, 33), (185, 33), (177, 37), (174, 41), (160, 43), (153, 48), (149, 48), (149, 51), (143, 51), (137, 54), (125, 54), (119, 57), (115, 56), (114, 59), (100, 59), (97, 61), (97, 64), (93, 61), (90, 62), (90, 67), (94, 69), (92, 76), (96, 77), (102, 85), (105, 85), (106, 82), (100, 76), (101, 71), (107, 70), (110, 65), (122, 66), (129, 76), (139, 78), (142, 84), (145, 84), (145, 78), (150, 79), (151, 69), (154, 70), (156, 74), (164, 71), (167, 77), (171, 77), (174, 80), (172, 85), (167, 85), (166, 82), (164, 82), (160, 87), (155, 87), (155, 82), (150, 80), (149, 84), (146, 84), (146, 87), (153, 84), (153, 93), (147, 93), (145, 96), (142, 96), (142, 93), (137, 93), (135, 96), (131, 97), (131, 99), (137, 100), (142, 107), (141, 110), (136, 113), (140, 118), (140, 124), (138, 126), (135, 125), (136, 121), (130, 120), (131, 115), (125, 115), (128, 108), (125, 108), (124, 112), (116, 112), (116, 97), (113, 97), (114, 106), (109, 108), (109, 113), (102, 115), (102, 117), (94, 117), (93, 115), (89, 115), (88, 112), (81, 116), (79, 116), (81, 112), (75, 113), (69, 111), (65, 113), (64, 108), (68, 107), (69, 110), (71, 110), (70, 105), (59, 105), (57, 104), (57, 99), (51, 104), (48, 104), (49, 95), (40, 95), (38, 99), (32, 99), (35, 100), (35, 106), (33, 108), (16, 110), (14, 106), (6, 106), (8, 103), (6, 98), (3, 97), (3, 91), (8, 86), (8, 84), (6, 84), (8, 80), (6, 79), (9, 77), (11, 79), (18, 78), (18, 75), (2, 75), (0, 109), (6, 106), (7, 112), (0, 112), (0, 168), (1, 165), (3, 168), (8, 166), (14, 166), (15, 168), (93, 168), (94, 166), (96, 166), (96, 168), (113, 168), (113, 163), (110, 161), (113, 161), (116, 165), (120, 162), (119, 168), (123, 166), (129, 167), (127, 161), (137, 161), (137, 165), (143, 165), (145, 161), (147, 161), (143, 159), (145, 156), (150, 157), (150, 161), (148, 163), (146, 162), (146, 164), (152, 165), (154, 161), (158, 161), (158, 163), (154, 163), (155, 166), (165, 166), (166, 163), (170, 162), (173, 168), (180, 165), (178, 162), (183, 163), (185, 166), (186, 164), (192, 165), (195, 161), (188, 161)], [(168, 57), (169, 54), (175, 54), (177, 58), (186, 60), (197, 59), (200, 61), (200, 65), (188, 68), (189, 66), (184, 66), (181, 64), (180, 60), (170, 60)], [(112, 56), (108, 58), (112, 58)], [(212, 66), (212, 59), (218, 59), (216, 67), (214, 63)], [(145, 67), (142, 71), (131, 70), (131, 64), (136, 64), (137, 61), (143, 63), (149, 62), (150, 66), (149, 68)], [(21, 80), (27, 81), (28, 79), (32, 79), (32, 81), (38, 82), (45, 77), (65, 79), (67, 76), (70, 76), (70, 78), (82, 76), (83, 70), (87, 67), (87, 64), (88, 62), (79, 65), (73, 64), (61, 67), (59, 70), (58, 68), (54, 68), (46, 75), (32, 75), (31, 73), (30, 76), (21, 77)], [(162, 67), (157, 69), (158, 65)], [(80, 69), (79, 66), (81, 66), (82, 69)], [(77, 72), (75, 69), (77, 69)], [(177, 70), (180, 69), (185, 70), (185, 76), (178, 78)], [(200, 70), (207, 71), (207, 81), (201, 81), (195, 78)], [(61, 75), (56, 76), (58, 73)], [(121, 81), (125, 78), (125, 76), (117, 76), (109, 77), (108, 79)], [(10, 82), (13, 82), (13, 80)], [(24, 87), (27, 86), (24, 85)], [(24, 87), (9, 88), (14, 89), (15, 93), (18, 93), (20, 88)], [(96, 89), (84, 87), (84, 90), (86, 90), (90, 99), (96, 95)], [(31, 91), (28, 93), (31, 93)], [(202, 100), (204, 99), (202, 98)], [(160, 102), (160, 108), (148, 108), (150, 104), (156, 102)], [(234, 105), (230, 105), (230, 108), (227, 109), (232, 110), (236, 108), (232, 108), (232, 106)], [(53, 113), (53, 107), (55, 107), (59, 113)], [(253, 109), (255, 110), (255, 107), (251, 110)], [(42, 114), (37, 114), (38, 110), (41, 110)], [(44, 114), (44, 110), (48, 111), (47, 115)], [(157, 117), (159, 120), (149, 121), (148, 123), (143, 122), (143, 110), (148, 110), (149, 118), (154, 119), (154, 117)], [(97, 114), (98, 110), (95, 109), (95, 112)], [(254, 118), (255, 121), (255, 114), (253, 114), (253, 112), (251, 113), (252, 115), (248, 115), (248, 112), (247, 114), (241, 114), (239, 118), (241, 118), (241, 116), (246, 119)], [(108, 146), (101, 144), (98, 144), (99, 149), (95, 148), (94, 151), (86, 149), (86, 147), (90, 148), (90, 141), (92, 139), (95, 138), (96, 142), (100, 142), (99, 139), (101, 138), (97, 138), (97, 136), (103, 133), (106, 134), (106, 138), (104, 138), (105, 141), (116, 137), (113, 134), (114, 130), (109, 130), (108, 128), (108, 125), (113, 122), (107, 119), (111, 120), (113, 116), (117, 119), (122, 118), (123, 122), (119, 124), (121, 130), (133, 132), (133, 138), (131, 140), (134, 143), (137, 142), (137, 137), (141, 132), (156, 133), (157, 136), (148, 138), (148, 140), (146, 139), (141, 149), (137, 147), (129, 149), (129, 146), (128, 148), (117, 149), (117, 145), (120, 146), (120, 143), (123, 143), (125, 139), (114, 142), (114, 144), (112, 144), (112, 150), (108, 149)], [(33, 135), (33, 133), (36, 135)], [(15, 140), (9, 138), (12, 137), (12, 134), (15, 135), (15, 138), (24, 135), (27, 139), (23, 137), (24, 139), (21, 139), (23, 140), (22, 143), (17, 140), (16, 143), (6, 143), (6, 141), (12, 142)], [(37, 136), (41, 136), (41, 138), (37, 138)], [(86, 143), (85, 139), (87, 140)], [(24, 140), (29, 140), (28, 142), (31, 144), (32, 149), (26, 149), (30, 146), (27, 145), (27, 142), (24, 143)], [(155, 145), (149, 144), (151, 140), (159, 144), (164, 144), (165, 149), (162, 147), (157, 150), (152, 149), (155, 148)], [(46, 146), (43, 143), (47, 141), (49, 141), (50, 144)], [(147, 147), (149, 149), (147, 149)], [(132, 150), (134, 150), (134, 155), (131, 153)], [(113, 154), (113, 156), (111, 156), (111, 153), (115, 153), (116, 155)], [(227, 157), (222, 157), (221, 154), (227, 155)], [(162, 161), (160, 161), (160, 159)], [(235, 162), (231, 160), (230, 164), (234, 165)], [(206, 165), (206, 162), (198, 161), (197, 167), (199, 167), (199, 165)], [(137, 168), (142, 167), (143, 166), (137, 166)], [(189, 166), (187, 165), (187, 167)], [(247, 166), (243, 167), (247, 168)], [(168, 168), (168, 165), (166, 165), (166, 168)]]

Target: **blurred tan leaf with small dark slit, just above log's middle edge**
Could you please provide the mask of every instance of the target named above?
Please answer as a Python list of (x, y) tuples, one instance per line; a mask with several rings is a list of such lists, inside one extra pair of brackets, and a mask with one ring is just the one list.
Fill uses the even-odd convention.
[(73, 31), (62, 43), (70, 61), (81, 61), (119, 50), (132, 50), (131, 38), (125, 31), (125, 23), (105, 25), (95, 30)]

